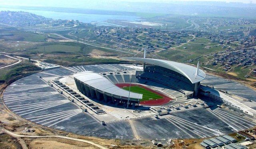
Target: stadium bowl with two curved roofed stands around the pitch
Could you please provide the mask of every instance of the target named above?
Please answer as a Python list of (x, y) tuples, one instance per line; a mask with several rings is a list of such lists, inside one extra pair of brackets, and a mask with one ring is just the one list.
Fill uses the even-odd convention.
[[(163, 97), (163, 94), (156, 91), (155, 93), (158, 94), (155, 94), (153, 93), (154, 90), (146, 86), (154, 86), (154, 88), (164, 90), (163, 92), (176, 98), (188, 99), (197, 96), (200, 81), (205, 77), (205, 73), (199, 67), (196, 68), (182, 63), (147, 58), (126, 59), (144, 63), (143, 71), (136, 71), (135, 74), (120, 74), (120, 72), (104, 73), (102, 75), (93, 72), (74, 74), (78, 90), (86, 96), (96, 97), (98, 100), (104, 99), (105, 102), (111, 100), (113, 103), (124, 105), (128, 103), (135, 106), (139, 105), (140, 101), (152, 100), (151, 103), (146, 103), (150, 105), (155, 103), (155, 106), (157, 106), (170, 102), (171, 98), (168, 101)], [(127, 85), (129, 86), (130, 84), (122, 85), (122, 83), (133, 83), (131, 88), (132, 90), (136, 88), (134, 91), (137, 91), (137, 93), (129, 92), (130, 87), (127, 88)], [(146, 86), (134, 87), (135, 83)], [(124, 86), (127, 90), (120, 88)], [(143, 91), (144, 94), (139, 94)], [(143, 98), (143, 95), (146, 96), (145, 91), (148, 91), (148, 94), (146, 98)], [(173, 94), (174, 92), (176, 94)], [(158, 100), (158, 102), (154, 100)], [(162, 102), (162, 100), (165, 102)]]

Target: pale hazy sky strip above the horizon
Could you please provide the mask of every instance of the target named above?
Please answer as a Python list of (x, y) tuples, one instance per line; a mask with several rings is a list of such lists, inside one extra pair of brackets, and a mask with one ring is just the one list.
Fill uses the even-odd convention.
[[(79, 7), (80, 4), (88, 4), (95, 2), (172, 2), (172, 0), (0, 0), (0, 5), (14, 5), (14, 6), (70, 6)], [(256, 0), (175, 0), (175, 1), (221, 1), (221, 2), (243, 2), (243, 3), (256, 3)]]

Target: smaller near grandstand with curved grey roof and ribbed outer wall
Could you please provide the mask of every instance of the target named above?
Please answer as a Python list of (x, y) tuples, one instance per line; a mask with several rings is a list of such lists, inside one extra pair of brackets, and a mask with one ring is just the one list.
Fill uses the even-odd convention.
[(98, 100), (104, 99), (106, 102), (129, 102), (129, 104), (139, 104), (142, 99), (142, 94), (129, 92), (119, 88), (104, 76), (85, 71), (82, 73), (74, 74), (74, 80), (78, 90), (89, 97), (97, 98)]

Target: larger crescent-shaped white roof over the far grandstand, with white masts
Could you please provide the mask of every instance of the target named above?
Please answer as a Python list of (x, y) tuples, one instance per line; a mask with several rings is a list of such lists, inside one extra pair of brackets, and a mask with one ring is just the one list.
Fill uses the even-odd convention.
[(140, 57), (126, 57), (124, 59), (140, 61), (140, 62), (149, 63), (152, 65), (157, 65), (160, 67), (170, 69), (172, 71), (175, 71), (177, 73), (184, 75), (193, 84), (200, 82), (206, 76), (204, 71), (202, 71), (201, 69), (199, 69), (198, 75), (195, 76), (196, 70), (197, 70), (196, 67), (186, 65), (184, 63), (178, 63), (178, 62), (174, 62), (174, 61), (166, 61), (166, 60), (161, 60), (161, 59), (140, 58)]

